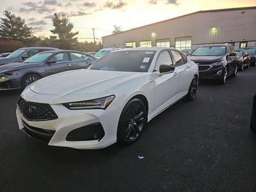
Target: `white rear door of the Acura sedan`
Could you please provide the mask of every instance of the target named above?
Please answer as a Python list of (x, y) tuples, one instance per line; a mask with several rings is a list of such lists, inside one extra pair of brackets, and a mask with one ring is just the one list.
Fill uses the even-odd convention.
[(191, 73), (189, 71), (190, 64), (188, 63), (187, 57), (179, 51), (171, 51), (173, 59), (175, 61), (175, 68), (179, 76), (179, 90), (178, 92), (188, 92), (188, 88), (191, 81)]

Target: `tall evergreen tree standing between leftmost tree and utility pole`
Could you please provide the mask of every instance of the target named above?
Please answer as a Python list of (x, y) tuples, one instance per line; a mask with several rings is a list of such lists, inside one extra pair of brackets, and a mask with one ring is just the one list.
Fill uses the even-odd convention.
[(72, 49), (76, 45), (78, 32), (73, 33), (74, 25), (69, 21), (64, 14), (54, 13), (52, 17), (52, 25), (54, 29), (51, 33), (57, 35), (58, 47), (61, 49)]

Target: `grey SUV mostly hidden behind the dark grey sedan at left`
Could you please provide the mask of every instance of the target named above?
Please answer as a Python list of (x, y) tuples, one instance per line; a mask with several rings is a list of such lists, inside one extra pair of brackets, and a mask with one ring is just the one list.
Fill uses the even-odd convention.
[(38, 52), (58, 50), (52, 47), (23, 47), (9, 54), (6, 58), (0, 58), (0, 66), (8, 63), (20, 63), (37, 54)]

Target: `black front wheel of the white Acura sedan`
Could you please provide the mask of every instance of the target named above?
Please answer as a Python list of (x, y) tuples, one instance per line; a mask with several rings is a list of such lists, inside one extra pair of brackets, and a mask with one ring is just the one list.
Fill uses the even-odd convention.
[(147, 123), (147, 110), (140, 99), (132, 99), (125, 105), (118, 122), (117, 142), (125, 145), (135, 143)]

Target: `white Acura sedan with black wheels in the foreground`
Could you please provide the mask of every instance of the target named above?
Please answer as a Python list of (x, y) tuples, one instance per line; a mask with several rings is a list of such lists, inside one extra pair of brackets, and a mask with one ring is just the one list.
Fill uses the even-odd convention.
[(120, 49), (88, 69), (30, 84), (17, 102), (17, 120), (20, 129), (49, 145), (131, 144), (164, 109), (183, 97), (193, 100), (197, 86), (197, 65), (176, 49)]

